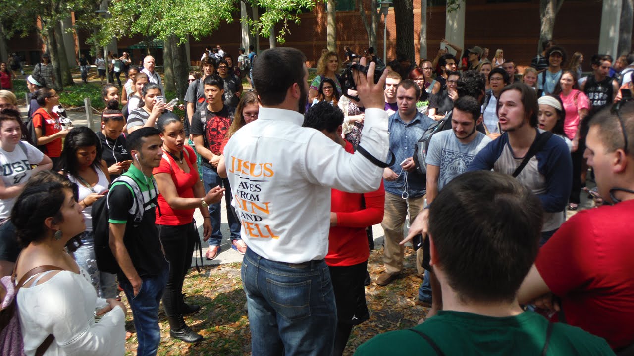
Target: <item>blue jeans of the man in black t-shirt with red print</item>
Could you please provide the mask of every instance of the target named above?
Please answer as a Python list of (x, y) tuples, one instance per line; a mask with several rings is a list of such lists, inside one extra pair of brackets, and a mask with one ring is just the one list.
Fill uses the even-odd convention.
[[(202, 166), (202, 181), (205, 184), (205, 192), (216, 186), (224, 186), (224, 202), (227, 205), (227, 221), (229, 222), (229, 230), (231, 231), (231, 241), (240, 239), (240, 220), (231, 210), (231, 187), (229, 179), (222, 179), (215, 169)], [(209, 246), (220, 246), (223, 241), (223, 234), (220, 232), (220, 211), (221, 203), (209, 205), (209, 216), (211, 219), (211, 237), (207, 241)]]

